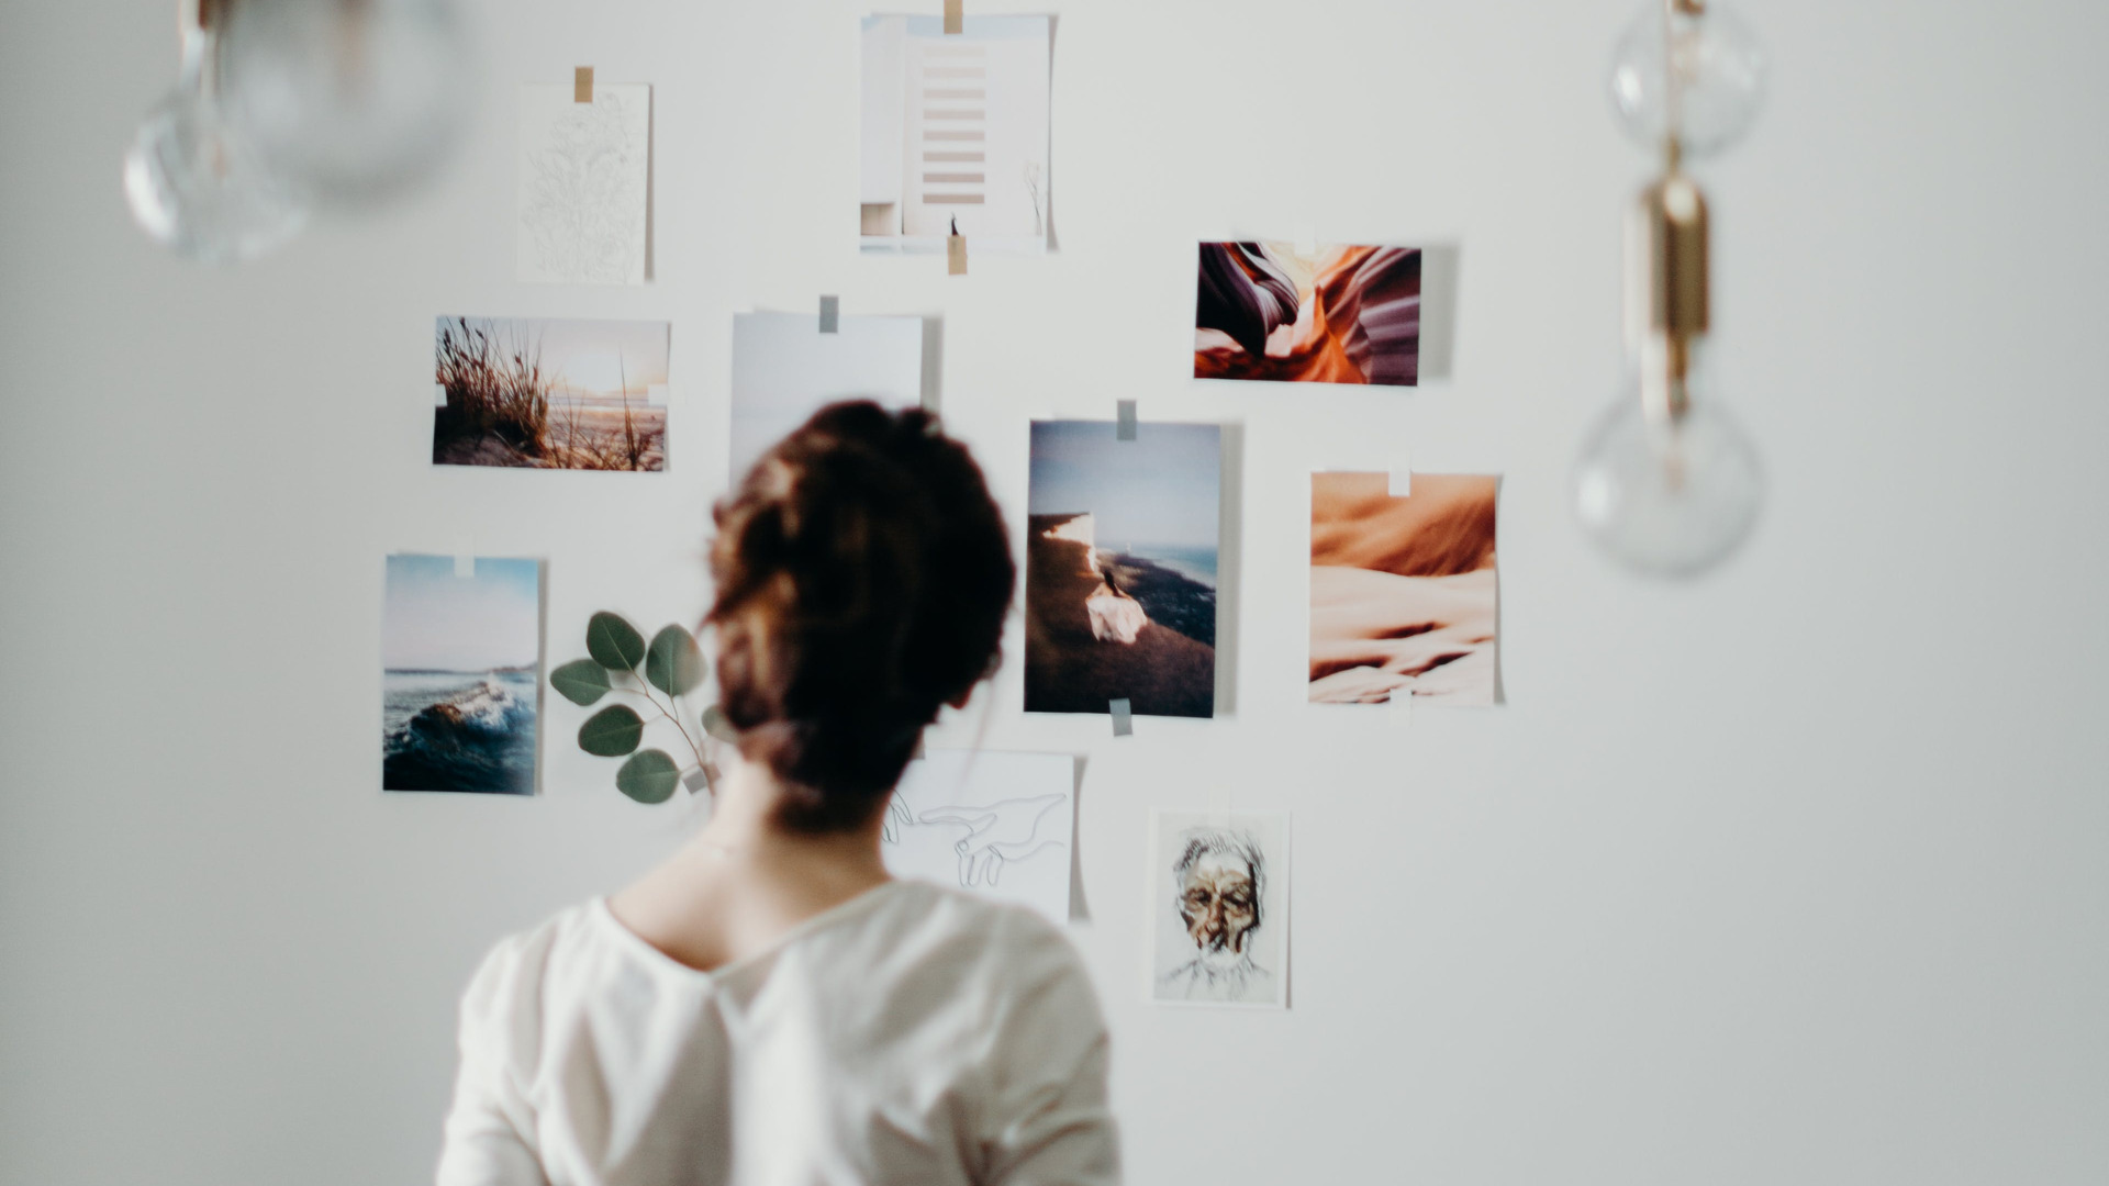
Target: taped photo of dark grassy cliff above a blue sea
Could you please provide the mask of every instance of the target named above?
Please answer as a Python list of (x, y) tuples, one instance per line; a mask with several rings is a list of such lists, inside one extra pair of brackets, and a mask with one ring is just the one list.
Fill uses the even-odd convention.
[(1215, 424), (1036, 420), (1025, 711), (1215, 715), (1223, 435)]

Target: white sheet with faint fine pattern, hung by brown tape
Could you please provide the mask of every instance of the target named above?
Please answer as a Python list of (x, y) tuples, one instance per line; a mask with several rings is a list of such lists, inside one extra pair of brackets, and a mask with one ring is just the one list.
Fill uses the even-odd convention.
[(519, 95), (519, 281), (645, 283), (652, 87), (572, 84)]

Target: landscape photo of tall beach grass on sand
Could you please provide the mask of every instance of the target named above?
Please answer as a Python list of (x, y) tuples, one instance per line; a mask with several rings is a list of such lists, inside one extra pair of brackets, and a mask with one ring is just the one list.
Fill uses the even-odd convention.
[(666, 468), (664, 321), (441, 317), (432, 464)]

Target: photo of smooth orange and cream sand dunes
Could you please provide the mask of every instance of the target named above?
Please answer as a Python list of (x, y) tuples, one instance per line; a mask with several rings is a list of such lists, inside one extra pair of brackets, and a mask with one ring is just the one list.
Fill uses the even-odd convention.
[(1499, 477), (1312, 475), (1310, 701), (1493, 705)]

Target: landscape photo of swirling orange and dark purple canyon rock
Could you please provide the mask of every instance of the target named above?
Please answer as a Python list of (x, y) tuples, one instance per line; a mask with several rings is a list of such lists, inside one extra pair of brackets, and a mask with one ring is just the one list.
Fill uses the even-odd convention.
[(1194, 378), (1417, 386), (1415, 247), (1202, 243)]

